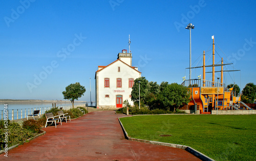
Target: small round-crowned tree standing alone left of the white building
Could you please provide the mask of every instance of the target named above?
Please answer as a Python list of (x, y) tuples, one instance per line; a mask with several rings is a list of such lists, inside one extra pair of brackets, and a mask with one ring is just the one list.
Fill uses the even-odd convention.
[(86, 88), (81, 86), (80, 83), (70, 84), (66, 87), (66, 91), (63, 91), (62, 94), (64, 99), (69, 99), (74, 108), (74, 100), (78, 100), (81, 96), (83, 96), (84, 92), (86, 92)]

